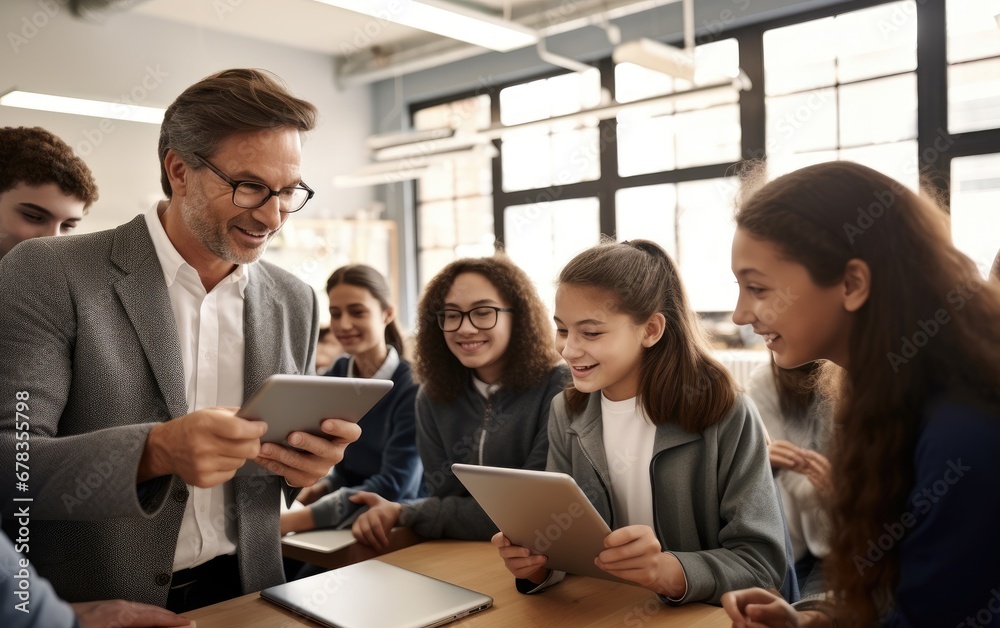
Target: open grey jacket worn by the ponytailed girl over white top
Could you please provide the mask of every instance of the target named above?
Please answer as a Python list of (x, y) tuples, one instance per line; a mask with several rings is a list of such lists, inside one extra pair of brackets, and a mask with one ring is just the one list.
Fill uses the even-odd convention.
[[(546, 468), (572, 475), (611, 529), (620, 527), (599, 394), (590, 395), (578, 416), (569, 415), (562, 395), (552, 401)], [(658, 426), (649, 473), (656, 536), (687, 578), (677, 603), (719, 604), (726, 591), (781, 587), (787, 563), (781, 508), (761, 421), (746, 395), (702, 432)]]

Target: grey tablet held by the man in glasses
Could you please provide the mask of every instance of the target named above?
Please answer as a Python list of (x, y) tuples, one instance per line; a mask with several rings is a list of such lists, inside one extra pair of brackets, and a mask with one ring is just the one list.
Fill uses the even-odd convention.
[(236, 416), (266, 421), (261, 442), (285, 444), (292, 432), (326, 436), (320, 429), (323, 419), (357, 423), (391, 389), (388, 379), (272, 375)]

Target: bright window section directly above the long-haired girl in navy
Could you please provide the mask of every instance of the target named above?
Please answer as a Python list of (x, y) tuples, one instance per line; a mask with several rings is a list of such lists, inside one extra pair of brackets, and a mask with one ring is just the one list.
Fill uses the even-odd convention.
[(916, 44), (909, 0), (765, 32), (772, 174), (845, 159), (916, 188)]

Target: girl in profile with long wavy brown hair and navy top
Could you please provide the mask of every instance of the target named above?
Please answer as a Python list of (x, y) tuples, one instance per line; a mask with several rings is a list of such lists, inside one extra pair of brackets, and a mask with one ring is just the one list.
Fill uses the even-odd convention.
[(850, 162), (775, 179), (736, 225), (733, 321), (783, 368), (844, 372), (823, 563), (837, 603), (736, 591), (733, 625), (1000, 626), (1000, 288), (932, 200)]

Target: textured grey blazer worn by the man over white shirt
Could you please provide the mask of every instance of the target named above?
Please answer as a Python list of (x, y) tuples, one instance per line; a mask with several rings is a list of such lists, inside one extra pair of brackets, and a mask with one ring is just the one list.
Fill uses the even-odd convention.
[[(27, 506), (27, 556), (69, 601), (164, 605), (188, 491), (177, 476), (137, 486), (136, 474), (149, 430), (186, 414), (187, 402), (170, 297), (145, 219), (22, 242), (0, 261), (0, 294), (0, 497), (8, 530), (21, 527), (9, 518)], [(314, 371), (317, 321), (308, 286), (271, 264), (253, 267), (245, 396), (271, 374)], [(27, 397), (20, 417), (18, 397)], [(25, 451), (30, 477), (21, 492), (8, 461)], [(285, 499), (294, 491), (274, 475), (237, 476), (232, 487), (227, 517), (236, 521), (243, 590), (278, 584), (278, 505), (283, 489)], [(12, 501), (18, 497), (34, 501)]]

